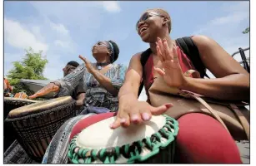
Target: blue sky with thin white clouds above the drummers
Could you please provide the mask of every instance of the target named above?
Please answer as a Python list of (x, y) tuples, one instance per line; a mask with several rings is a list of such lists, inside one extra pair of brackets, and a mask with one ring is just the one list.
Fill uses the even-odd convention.
[[(154, 7), (172, 17), (173, 39), (205, 35), (229, 54), (249, 46), (249, 34), (242, 33), (249, 27), (249, 2), (4, 2), (4, 76), (31, 46), (48, 59), (44, 76), (57, 80), (68, 61), (82, 63), (78, 55), (94, 62), (91, 47), (102, 40), (116, 41), (117, 63), (128, 66), (131, 56), (148, 48), (135, 24)], [(234, 58), (241, 60), (239, 54)]]

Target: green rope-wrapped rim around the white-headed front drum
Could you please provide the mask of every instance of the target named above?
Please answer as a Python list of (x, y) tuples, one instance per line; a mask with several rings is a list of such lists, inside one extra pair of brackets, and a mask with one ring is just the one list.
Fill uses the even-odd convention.
[[(158, 154), (160, 149), (166, 148), (169, 144), (173, 144), (173, 141), (176, 139), (176, 136), (178, 134), (178, 121), (174, 120), (172, 117), (168, 115), (163, 115), (166, 119), (165, 125), (163, 125), (162, 129), (159, 129), (155, 134), (152, 134), (150, 138), (146, 139), (141, 139), (138, 141), (133, 142), (134, 144), (137, 144), (137, 146), (141, 146), (140, 149), (142, 150), (143, 148), (149, 149), (147, 144), (144, 143), (143, 146), (143, 141), (146, 140), (146, 142), (150, 142), (152, 145), (152, 140), (157, 140), (158, 144), (154, 144), (152, 149), (150, 150), (150, 153), (146, 154), (145, 156), (140, 156), (140, 153), (133, 153), (133, 157), (130, 157), (128, 154), (127, 159), (128, 164), (133, 164), (135, 161), (140, 161), (143, 162), (146, 159), (149, 159), (150, 157), (153, 157), (154, 155)], [(173, 122), (173, 123), (172, 123)], [(171, 131), (171, 129), (174, 129), (174, 131)], [(107, 148), (107, 149), (85, 149), (85, 148), (79, 148), (78, 145), (76, 144), (76, 138), (78, 137), (78, 134), (76, 134), (73, 139), (70, 141), (68, 144), (68, 158), (72, 161), (73, 164), (82, 164), (79, 163), (79, 159), (83, 159), (85, 162), (86, 159), (90, 159), (90, 162), (88, 164), (92, 164), (91, 159), (93, 160), (100, 160), (102, 161), (103, 164), (104, 160), (108, 157), (109, 161), (113, 157), (114, 162), (118, 159), (118, 157), (121, 155), (121, 149), (126, 149), (126, 146), (130, 147), (132, 144), (124, 144), (122, 147), (112, 147), (112, 148)], [(154, 138), (153, 138), (154, 137)], [(158, 139), (156, 139), (158, 137)], [(162, 142), (160, 138), (165, 138), (166, 141)], [(140, 144), (140, 145), (138, 145)], [(135, 145), (134, 145), (135, 146)], [(106, 152), (107, 150), (110, 150)], [(138, 150), (137, 148), (134, 148)], [(76, 152), (77, 151), (77, 152)], [(125, 151), (125, 150), (124, 150)], [(135, 152), (135, 151), (134, 151)], [(89, 153), (89, 154), (88, 154)], [(88, 154), (88, 157), (86, 155)], [(122, 154), (123, 155), (123, 154)], [(100, 159), (103, 156), (103, 159)], [(107, 156), (107, 157), (106, 157)], [(123, 156), (124, 157), (124, 156)], [(85, 164), (85, 163), (84, 163)]]

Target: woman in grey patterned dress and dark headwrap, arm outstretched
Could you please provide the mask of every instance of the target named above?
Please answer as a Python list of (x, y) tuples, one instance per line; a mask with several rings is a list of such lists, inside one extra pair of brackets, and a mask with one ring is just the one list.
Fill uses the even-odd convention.
[(30, 96), (30, 99), (46, 95), (50, 91), (58, 96), (71, 95), (73, 89), (83, 80), (86, 90), (83, 114), (103, 113), (118, 110), (118, 91), (123, 85), (126, 67), (113, 64), (118, 59), (118, 45), (113, 41), (98, 41), (92, 48), (96, 63), (90, 63), (83, 56), (83, 61), (72, 73), (63, 79), (46, 85), (42, 90)]

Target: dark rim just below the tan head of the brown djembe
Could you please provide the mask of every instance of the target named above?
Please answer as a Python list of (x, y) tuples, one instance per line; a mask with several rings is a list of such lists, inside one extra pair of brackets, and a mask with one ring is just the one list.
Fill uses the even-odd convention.
[[(75, 105), (76, 104), (76, 100), (71, 100), (69, 103), (65, 103), (63, 105), (58, 105), (52, 109), (49, 109), (49, 110), (45, 110), (43, 112), (38, 112), (38, 113), (34, 113), (32, 115), (23, 115), (22, 117), (13, 117), (12, 119), (10, 119), (9, 117), (7, 117), (5, 119), (6, 122), (15, 122), (15, 121), (20, 121), (20, 120), (28, 120), (28, 119), (31, 119), (31, 118), (34, 118), (34, 117), (37, 117), (37, 116), (40, 116), (40, 115), (46, 115), (46, 114), (49, 114), (53, 111), (57, 111), (57, 110), (63, 110), (63, 108), (67, 107), (67, 105)], [(76, 111), (76, 110), (72, 110), (72, 111)]]

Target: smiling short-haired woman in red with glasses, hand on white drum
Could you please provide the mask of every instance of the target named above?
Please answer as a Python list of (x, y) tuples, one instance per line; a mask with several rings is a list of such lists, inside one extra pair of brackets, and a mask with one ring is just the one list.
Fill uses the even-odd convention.
[[(143, 79), (146, 92), (153, 83), (155, 73), (163, 76), (169, 86), (193, 91), (218, 100), (248, 100), (249, 74), (217, 42), (208, 37), (193, 36), (203, 65), (216, 79), (190, 78), (184, 71), (195, 70), (188, 56), (176, 46), (169, 36), (171, 19), (163, 9), (143, 12), (136, 28), (142, 41), (148, 42), (152, 51), (146, 65), (140, 62), (141, 53), (135, 54), (128, 67), (126, 79), (118, 94), (117, 119), (110, 127), (128, 127), (150, 120), (152, 115), (163, 114), (172, 104), (153, 107), (148, 102), (138, 101), (138, 87)], [(155, 69), (155, 70), (152, 70)], [(143, 71), (150, 71), (143, 75)], [(129, 100), (127, 100), (129, 99)], [(150, 100), (150, 99), (149, 99)], [(178, 119), (178, 163), (241, 164), (233, 138), (211, 116), (200, 113), (183, 115)]]

